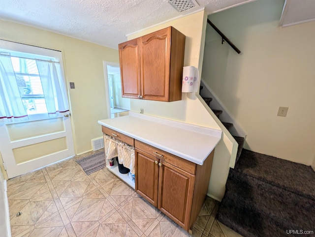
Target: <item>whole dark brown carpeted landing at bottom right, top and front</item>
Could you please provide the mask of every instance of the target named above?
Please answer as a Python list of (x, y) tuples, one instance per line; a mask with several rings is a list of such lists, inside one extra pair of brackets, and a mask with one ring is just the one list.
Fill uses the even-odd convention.
[(315, 233), (314, 189), (310, 166), (243, 149), (230, 169), (217, 217), (245, 237), (288, 236), (288, 230)]

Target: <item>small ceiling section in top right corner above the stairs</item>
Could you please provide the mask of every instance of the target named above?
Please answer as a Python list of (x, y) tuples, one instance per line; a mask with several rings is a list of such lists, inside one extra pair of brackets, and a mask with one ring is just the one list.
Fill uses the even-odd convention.
[(281, 26), (291, 26), (315, 20), (315, 0), (286, 0)]

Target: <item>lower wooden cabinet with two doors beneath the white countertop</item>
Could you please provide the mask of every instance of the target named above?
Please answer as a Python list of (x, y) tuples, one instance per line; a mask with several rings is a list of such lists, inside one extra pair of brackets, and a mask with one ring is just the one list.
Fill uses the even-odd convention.
[(135, 190), (185, 230), (205, 200), (213, 152), (204, 165), (135, 140)]

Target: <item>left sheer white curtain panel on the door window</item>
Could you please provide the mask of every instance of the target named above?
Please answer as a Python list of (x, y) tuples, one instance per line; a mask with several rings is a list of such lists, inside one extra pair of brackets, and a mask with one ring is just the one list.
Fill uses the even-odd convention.
[(9, 56), (0, 55), (0, 122), (28, 119)]

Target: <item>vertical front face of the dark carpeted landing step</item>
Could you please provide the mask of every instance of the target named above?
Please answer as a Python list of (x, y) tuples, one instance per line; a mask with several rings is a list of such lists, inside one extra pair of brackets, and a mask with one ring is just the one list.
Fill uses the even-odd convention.
[(230, 170), (218, 220), (245, 237), (313, 230), (315, 201)]

